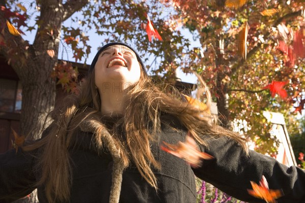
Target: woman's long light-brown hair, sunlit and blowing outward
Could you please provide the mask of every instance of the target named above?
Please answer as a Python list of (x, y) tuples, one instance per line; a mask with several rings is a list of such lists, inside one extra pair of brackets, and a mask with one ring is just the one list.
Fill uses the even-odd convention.
[[(141, 71), (143, 72), (143, 71)], [(50, 115), (54, 119), (48, 133), (34, 145), (23, 147), (33, 150), (43, 146), (42, 155), (37, 164), (37, 170), (42, 173), (37, 183), (45, 185), (45, 193), (49, 202), (67, 201), (70, 197), (72, 171), (69, 164), (69, 151), (77, 142), (74, 134), (82, 124), (94, 120), (94, 144), (103, 153), (103, 135), (112, 134), (113, 143), (119, 152), (122, 164), (126, 168), (133, 162), (141, 176), (156, 190), (157, 178), (153, 167), (160, 170), (150, 150), (150, 143), (157, 142), (157, 132), (161, 131), (161, 113), (169, 114), (180, 121), (182, 126), (191, 131), (194, 139), (205, 145), (201, 135), (214, 138), (226, 136), (238, 142), (247, 152), (244, 140), (237, 134), (211, 122), (206, 112), (189, 105), (179, 91), (168, 84), (156, 84), (150, 77), (141, 73), (140, 81), (128, 87), (125, 92), (124, 111), (113, 129), (107, 129), (103, 124), (101, 99), (94, 81), (95, 72), (91, 72), (79, 86), (79, 93), (67, 96), (63, 105), (57, 107)], [(142, 115), (142, 116), (139, 116)], [(126, 141), (122, 141), (117, 132), (118, 126), (123, 126)], [(40, 149), (39, 149), (40, 150)]]

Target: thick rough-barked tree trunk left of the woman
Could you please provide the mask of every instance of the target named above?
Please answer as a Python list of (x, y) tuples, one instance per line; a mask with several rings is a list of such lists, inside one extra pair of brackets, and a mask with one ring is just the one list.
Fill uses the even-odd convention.
[[(40, 138), (46, 115), (54, 108), (56, 83), (50, 76), (57, 62), (63, 16), (61, 1), (41, 4), (39, 28), (33, 46), (29, 47), (31, 57), (26, 59), (27, 71), (19, 74), (22, 84), (20, 130), (29, 139)], [(49, 56), (47, 50), (54, 50), (54, 57)]]

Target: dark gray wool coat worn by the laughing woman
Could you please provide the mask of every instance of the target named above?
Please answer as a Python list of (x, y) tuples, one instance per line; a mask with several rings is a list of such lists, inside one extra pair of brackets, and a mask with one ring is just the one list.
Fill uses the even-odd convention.
[[(174, 130), (178, 129), (178, 131)], [(248, 202), (264, 202), (248, 194), (250, 181), (259, 182), (264, 175), (270, 189), (282, 189), (278, 202), (305, 202), (305, 172), (287, 167), (273, 158), (250, 151), (250, 156), (228, 138), (206, 139), (209, 149), (201, 151), (215, 157), (204, 160), (200, 168), (192, 168), (184, 160), (160, 150), (165, 141), (185, 141), (187, 129), (177, 119), (163, 119), (158, 143), (151, 144), (161, 171), (155, 171), (158, 191), (152, 188), (130, 166), (123, 173), (119, 202), (196, 202), (195, 175), (227, 194)], [(77, 150), (71, 151), (73, 182), (70, 202), (108, 202), (111, 186), (112, 158), (108, 152), (98, 155), (90, 145), (93, 134), (79, 130)], [(203, 138), (207, 138), (203, 136)], [(37, 153), (37, 152), (32, 152)], [(39, 173), (34, 172), (36, 158), (31, 153), (10, 150), (0, 155), (0, 202), (10, 202), (31, 193)], [(56, 167), (56, 166), (55, 166)], [(46, 202), (43, 187), (38, 188), (40, 202)]]

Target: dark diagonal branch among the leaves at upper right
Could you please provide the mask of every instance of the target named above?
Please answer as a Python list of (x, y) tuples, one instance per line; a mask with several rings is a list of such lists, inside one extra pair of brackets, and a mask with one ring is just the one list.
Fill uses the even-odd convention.
[[(287, 20), (289, 18), (292, 18), (292, 17), (296, 17), (296, 16), (299, 16), (301, 15), (301, 12), (302, 10), (299, 10), (299, 11), (296, 11), (296, 12), (292, 12), (292, 13), (288, 13), (284, 16), (282, 16), (281, 18), (279, 18), (273, 25), (272, 27), (276, 27), (278, 26), (283, 20)], [(265, 36), (265, 35), (264, 35)], [(270, 35), (268, 35), (269, 37)], [(251, 49), (251, 51), (249, 51), (249, 53), (247, 54), (247, 57), (248, 58), (251, 58), (252, 55), (254, 53), (256, 53), (256, 51), (260, 48), (260, 46), (262, 45), (262, 43), (258, 43), (253, 49)], [(267, 46), (266, 44), (264, 44), (264, 46)], [(245, 60), (240, 60), (231, 70), (232, 73), (235, 73), (237, 71), (237, 69), (243, 65), (243, 63), (245, 63)]]

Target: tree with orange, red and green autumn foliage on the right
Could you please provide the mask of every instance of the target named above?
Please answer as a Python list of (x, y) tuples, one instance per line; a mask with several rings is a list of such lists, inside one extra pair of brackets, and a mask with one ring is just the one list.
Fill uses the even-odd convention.
[(180, 22), (201, 42), (185, 52), (182, 69), (197, 71), (210, 86), (224, 126), (245, 120), (240, 130), (276, 152), (261, 112), (287, 118), (303, 109), (303, 2), (174, 0), (170, 6), (177, 13), (169, 24)]

